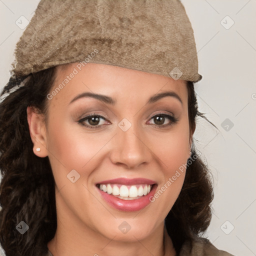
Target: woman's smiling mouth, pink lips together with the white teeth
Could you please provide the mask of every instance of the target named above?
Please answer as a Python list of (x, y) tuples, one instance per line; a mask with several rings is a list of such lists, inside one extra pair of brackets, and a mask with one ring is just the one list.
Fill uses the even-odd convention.
[(122, 211), (136, 211), (150, 203), (157, 184), (144, 178), (117, 178), (95, 184), (104, 201)]

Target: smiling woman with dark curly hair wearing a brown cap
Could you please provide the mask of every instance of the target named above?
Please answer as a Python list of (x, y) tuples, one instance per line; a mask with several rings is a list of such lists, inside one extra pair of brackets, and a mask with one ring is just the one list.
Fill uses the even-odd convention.
[(199, 236), (213, 192), (179, 1), (42, 0), (15, 55), (0, 104), (6, 256), (231, 255)]

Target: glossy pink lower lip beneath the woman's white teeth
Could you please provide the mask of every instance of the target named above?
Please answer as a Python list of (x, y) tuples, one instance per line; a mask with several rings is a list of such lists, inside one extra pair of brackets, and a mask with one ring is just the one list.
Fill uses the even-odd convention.
[(154, 184), (152, 189), (147, 195), (144, 195), (138, 199), (133, 199), (133, 200), (123, 200), (118, 197), (115, 197), (112, 194), (108, 194), (102, 190), (100, 190), (98, 187), (97, 189), (99, 190), (100, 194), (102, 195), (103, 199), (108, 202), (112, 207), (122, 210), (122, 211), (136, 211), (136, 210), (141, 210), (143, 209), (146, 205), (150, 203), (149, 198), (150, 196), (153, 196), (155, 190), (156, 190), (157, 185)]

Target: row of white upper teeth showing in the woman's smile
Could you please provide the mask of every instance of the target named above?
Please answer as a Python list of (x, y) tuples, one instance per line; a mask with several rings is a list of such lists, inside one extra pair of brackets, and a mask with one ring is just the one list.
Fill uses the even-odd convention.
[(138, 184), (138, 185), (121, 185), (121, 184), (100, 184), (99, 189), (112, 194), (124, 200), (132, 200), (147, 195), (150, 192), (151, 185)]

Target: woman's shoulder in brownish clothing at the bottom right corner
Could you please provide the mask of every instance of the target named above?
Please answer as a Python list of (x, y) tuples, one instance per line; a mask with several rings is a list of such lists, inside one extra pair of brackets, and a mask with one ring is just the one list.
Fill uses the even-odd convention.
[(226, 251), (217, 249), (207, 238), (194, 237), (192, 241), (182, 244), (179, 256), (234, 256)]

